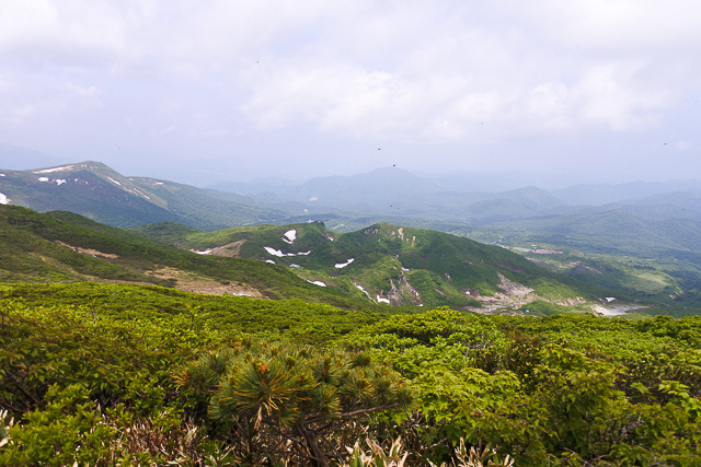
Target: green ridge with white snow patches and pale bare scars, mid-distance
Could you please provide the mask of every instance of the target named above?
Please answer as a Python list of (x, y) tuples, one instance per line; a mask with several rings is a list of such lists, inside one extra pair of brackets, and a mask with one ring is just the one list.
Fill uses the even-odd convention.
[(536, 300), (572, 305), (614, 293), (497, 246), (388, 223), (350, 233), (327, 231), (321, 222), (216, 232), (158, 223), (135, 232), (202, 255), (285, 265), (320, 288), (376, 303), (519, 308)]

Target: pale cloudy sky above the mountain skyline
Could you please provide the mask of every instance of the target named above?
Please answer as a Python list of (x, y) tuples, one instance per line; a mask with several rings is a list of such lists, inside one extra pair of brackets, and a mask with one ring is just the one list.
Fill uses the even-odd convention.
[(700, 32), (698, 0), (0, 0), (0, 162), (701, 178)]

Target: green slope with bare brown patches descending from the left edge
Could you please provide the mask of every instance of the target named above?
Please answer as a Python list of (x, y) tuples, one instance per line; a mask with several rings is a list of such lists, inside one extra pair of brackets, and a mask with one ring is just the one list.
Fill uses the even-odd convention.
[(100, 224), (79, 214), (0, 207), (3, 282), (136, 282), (357, 307), (342, 292), (310, 284), (289, 268), (202, 256)]

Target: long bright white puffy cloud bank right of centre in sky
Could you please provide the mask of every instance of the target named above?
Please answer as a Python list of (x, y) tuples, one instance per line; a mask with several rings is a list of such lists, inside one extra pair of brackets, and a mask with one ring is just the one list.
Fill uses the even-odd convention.
[[(303, 70), (303, 71), (302, 71)], [(604, 63), (578, 80), (535, 84), (496, 77), (484, 86), (456, 72), (429, 75), (366, 71), (349, 63), (299, 68), (281, 63), (256, 75), (242, 112), (263, 128), (306, 120), (322, 131), (399, 140), (476, 137), (489, 124), (509, 131), (637, 130), (657, 122), (669, 92), (635, 80), (635, 66)]]

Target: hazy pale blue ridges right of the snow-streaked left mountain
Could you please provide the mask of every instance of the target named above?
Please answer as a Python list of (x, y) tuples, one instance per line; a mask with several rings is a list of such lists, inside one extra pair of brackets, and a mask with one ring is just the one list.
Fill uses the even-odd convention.
[[(539, 217), (622, 209), (650, 220), (701, 220), (700, 180), (588, 184), (545, 190), (525, 183), (508, 190), (484, 190), (489, 183), (459, 183), (458, 176), (428, 177), (397, 167), (353, 176), (317, 177), (295, 185), (219, 183), (212, 188), (245, 194), (261, 202), (295, 202), (308, 212), (345, 217), (393, 217), (436, 222), (489, 225)], [(495, 186), (517, 185), (517, 180)], [(480, 189), (475, 189), (480, 188)]]

